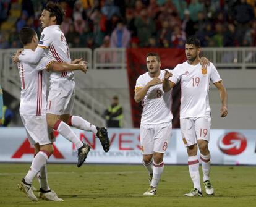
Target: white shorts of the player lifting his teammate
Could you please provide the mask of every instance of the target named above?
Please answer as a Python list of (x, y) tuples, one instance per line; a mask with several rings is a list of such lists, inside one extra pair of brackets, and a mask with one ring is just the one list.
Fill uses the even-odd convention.
[(28, 141), (30, 145), (48, 145), (55, 142), (55, 138), (50, 139), (49, 133), (52, 132), (51, 128), (48, 128), (46, 116), (33, 116), (20, 114), (23, 125), (26, 129)]

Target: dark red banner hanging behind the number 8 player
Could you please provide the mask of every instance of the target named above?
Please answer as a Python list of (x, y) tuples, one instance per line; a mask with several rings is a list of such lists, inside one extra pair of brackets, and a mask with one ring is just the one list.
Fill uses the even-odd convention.
[[(140, 115), (142, 106), (134, 101), (134, 87), (139, 75), (147, 72), (147, 53), (158, 53), (161, 57), (161, 69), (174, 69), (177, 64), (186, 61), (184, 49), (171, 48), (127, 48), (127, 73), (129, 78), (130, 104), (132, 108), (132, 122), (134, 127), (140, 127)], [(180, 86), (173, 89), (173, 127), (179, 128), (179, 106), (180, 106)]]

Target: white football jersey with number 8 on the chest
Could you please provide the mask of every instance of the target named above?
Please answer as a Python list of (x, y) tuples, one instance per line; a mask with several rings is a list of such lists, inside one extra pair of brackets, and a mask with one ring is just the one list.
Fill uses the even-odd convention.
[[(167, 70), (167, 69), (166, 69)], [(169, 72), (171, 72), (169, 70)], [(161, 70), (158, 78), (161, 80), (164, 78), (164, 70)], [(147, 85), (150, 80), (148, 72), (139, 76), (136, 82), (135, 90), (137, 88), (142, 88)], [(141, 124), (161, 124), (166, 122), (171, 122), (173, 119), (173, 114), (171, 112), (171, 91), (164, 93), (163, 85), (157, 84), (150, 87), (147, 94), (142, 99), (142, 119)]]

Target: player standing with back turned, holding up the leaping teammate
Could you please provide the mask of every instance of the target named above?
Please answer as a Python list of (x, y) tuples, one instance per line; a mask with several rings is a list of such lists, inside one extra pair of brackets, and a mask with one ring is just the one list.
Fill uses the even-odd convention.
[[(20, 41), (24, 51), (30, 55), (38, 45), (38, 37), (32, 28), (24, 27), (19, 33)], [(47, 180), (46, 162), (53, 154), (53, 137), (49, 138), (46, 122), (46, 71), (66, 72), (67, 70), (82, 70), (86, 72), (87, 65), (81, 61), (79, 64), (68, 64), (56, 62), (48, 57), (41, 58), (37, 65), (26, 64), (20, 61), (18, 64), (21, 95), (20, 95), (20, 117), (26, 129), (28, 140), (35, 146), (35, 157), (27, 175), (19, 184), (28, 198), (32, 201), (38, 199), (32, 190), (32, 180), (38, 174), (40, 182), (39, 197), (50, 201), (63, 201), (49, 188)]]

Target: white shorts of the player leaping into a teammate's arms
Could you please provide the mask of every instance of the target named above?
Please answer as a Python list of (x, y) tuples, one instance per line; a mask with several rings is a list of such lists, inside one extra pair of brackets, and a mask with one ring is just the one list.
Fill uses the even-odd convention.
[(47, 99), (46, 113), (49, 114), (70, 114), (75, 99), (75, 81), (60, 80), (51, 82)]

